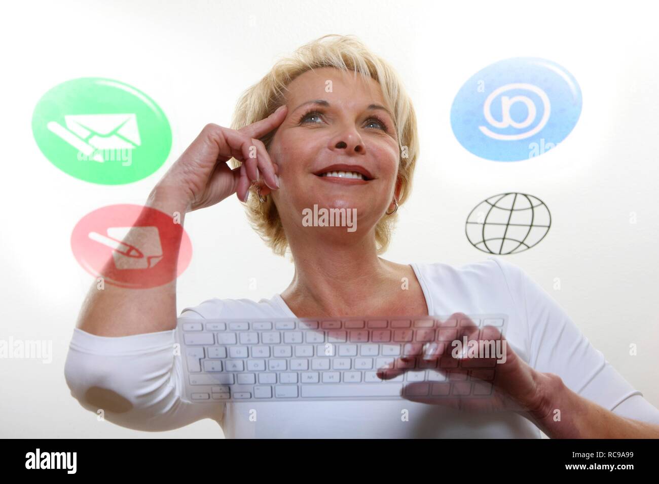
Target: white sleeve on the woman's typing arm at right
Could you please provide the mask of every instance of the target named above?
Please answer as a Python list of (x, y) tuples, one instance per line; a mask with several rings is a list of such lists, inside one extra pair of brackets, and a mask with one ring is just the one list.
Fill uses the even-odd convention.
[(495, 258), (529, 327), (529, 364), (617, 415), (659, 423), (659, 410), (594, 348), (565, 310), (521, 268)]

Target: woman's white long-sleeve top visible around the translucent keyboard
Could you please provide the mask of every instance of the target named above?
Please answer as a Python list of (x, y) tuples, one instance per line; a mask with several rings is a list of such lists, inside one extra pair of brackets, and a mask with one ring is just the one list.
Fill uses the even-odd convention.
[[(579, 331), (567, 313), (522, 269), (500, 257), (453, 267), (412, 263), (429, 315), (505, 313), (505, 338), (534, 369), (556, 373), (569, 389), (614, 413), (659, 424), (643, 398)], [(295, 317), (279, 294), (259, 302), (212, 299), (181, 313), (190, 318)], [(176, 429), (217, 421), (227, 438), (529, 438), (540, 431), (514, 413), (459, 413), (409, 400), (188, 402), (175, 331), (105, 337), (74, 329), (65, 377), (84, 408), (132, 429)]]

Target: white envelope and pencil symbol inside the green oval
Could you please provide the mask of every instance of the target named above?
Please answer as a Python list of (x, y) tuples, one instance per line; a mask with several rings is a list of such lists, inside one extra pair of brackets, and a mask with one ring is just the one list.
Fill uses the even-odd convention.
[[(97, 149), (134, 149), (141, 144), (134, 114), (65, 115), (64, 122), (66, 128), (55, 121), (46, 126), (88, 156)], [(103, 162), (100, 153), (93, 159)]]

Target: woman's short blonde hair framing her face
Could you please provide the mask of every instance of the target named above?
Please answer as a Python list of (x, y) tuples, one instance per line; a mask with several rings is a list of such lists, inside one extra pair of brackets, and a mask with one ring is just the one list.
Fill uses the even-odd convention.
[[(290, 82), (308, 70), (322, 67), (353, 71), (355, 75), (358, 73), (366, 78), (370, 77), (380, 84), (386, 103), (393, 109), (398, 145), (401, 148), (398, 168), (401, 192), (398, 204), (403, 205), (412, 190), (412, 176), (418, 157), (415, 110), (401, 78), (393, 67), (370, 51), (355, 36), (322, 36), (302, 45), (291, 57), (278, 60), (266, 76), (243, 92), (237, 103), (231, 128), (240, 129), (268, 117), (285, 103), (283, 93)], [(274, 133), (275, 131), (270, 132), (260, 138), (266, 148), (270, 148)], [(235, 158), (232, 158), (230, 163), (233, 168), (241, 165)], [(256, 194), (256, 186), (252, 186), (250, 192), (245, 204), (250, 225), (275, 254), (285, 255), (288, 242), (272, 196), (267, 197), (265, 203), (261, 203)], [(376, 225), (378, 254), (383, 254), (389, 246), (397, 215), (398, 213), (384, 215)]]

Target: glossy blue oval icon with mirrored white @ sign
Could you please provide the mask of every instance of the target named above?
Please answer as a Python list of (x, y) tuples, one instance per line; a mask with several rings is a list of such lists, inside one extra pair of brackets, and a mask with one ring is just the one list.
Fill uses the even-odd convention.
[(577, 80), (558, 64), (515, 57), (476, 72), (451, 106), (455, 138), (474, 155), (520, 161), (562, 142), (581, 115)]

